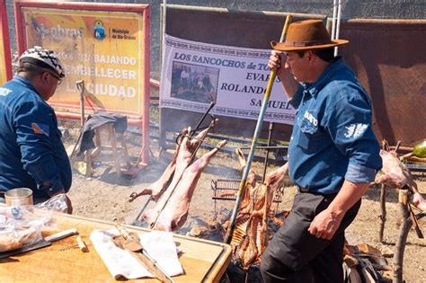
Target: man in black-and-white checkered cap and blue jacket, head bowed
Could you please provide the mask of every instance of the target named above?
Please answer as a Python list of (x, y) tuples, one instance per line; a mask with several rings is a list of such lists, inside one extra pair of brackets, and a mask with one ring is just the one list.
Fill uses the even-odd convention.
[[(53, 51), (34, 47), (18, 74), (0, 87), (0, 190), (30, 188), (45, 200), (71, 187), (72, 172), (58, 119), (47, 101), (65, 77)], [(71, 201), (67, 198), (68, 212)]]

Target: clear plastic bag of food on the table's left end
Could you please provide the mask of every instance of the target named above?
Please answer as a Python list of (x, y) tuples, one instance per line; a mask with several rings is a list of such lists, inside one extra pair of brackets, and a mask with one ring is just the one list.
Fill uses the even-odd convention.
[(51, 213), (33, 206), (0, 207), (0, 252), (20, 249), (43, 240), (41, 232), (55, 229)]

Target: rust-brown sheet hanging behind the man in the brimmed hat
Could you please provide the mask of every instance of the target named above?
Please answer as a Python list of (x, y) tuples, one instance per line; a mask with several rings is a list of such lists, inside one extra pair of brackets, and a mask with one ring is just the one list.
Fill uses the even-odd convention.
[(341, 49), (373, 101), (378, 138), (413, 145), (426, 137), (426, 20), (351, 20)]

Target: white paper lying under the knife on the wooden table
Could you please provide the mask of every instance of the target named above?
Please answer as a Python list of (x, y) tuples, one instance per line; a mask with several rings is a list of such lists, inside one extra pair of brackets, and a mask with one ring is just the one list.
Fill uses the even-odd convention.
[[(127, 279), (151, 277), (149, 273), (129, 252), (121, 250), (111, 241), (111, 236), (119, 234), (117, 230), (94, 230), (90, 240), (96, 252), (102, 258), (114, 279), (120, 276)], [(183, 273), (182, 265), (176, 253), (176, 245), (173, 242), (173, 234), (154, 231), (140, 234), (140, 243), (146, 252), (167, 272), (170, 276)]]

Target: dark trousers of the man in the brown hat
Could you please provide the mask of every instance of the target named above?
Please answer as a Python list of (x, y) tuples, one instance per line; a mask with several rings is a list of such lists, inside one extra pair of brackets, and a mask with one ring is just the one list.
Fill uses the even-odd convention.
[(361, 201), (350, 208), (331, 240), (318, 239), (307, 228), (335, 195), (297, 193), (284, 225), (274, 234), (262, 262), (265, 282), (342, 282), (344, 230), (356, 217)]

